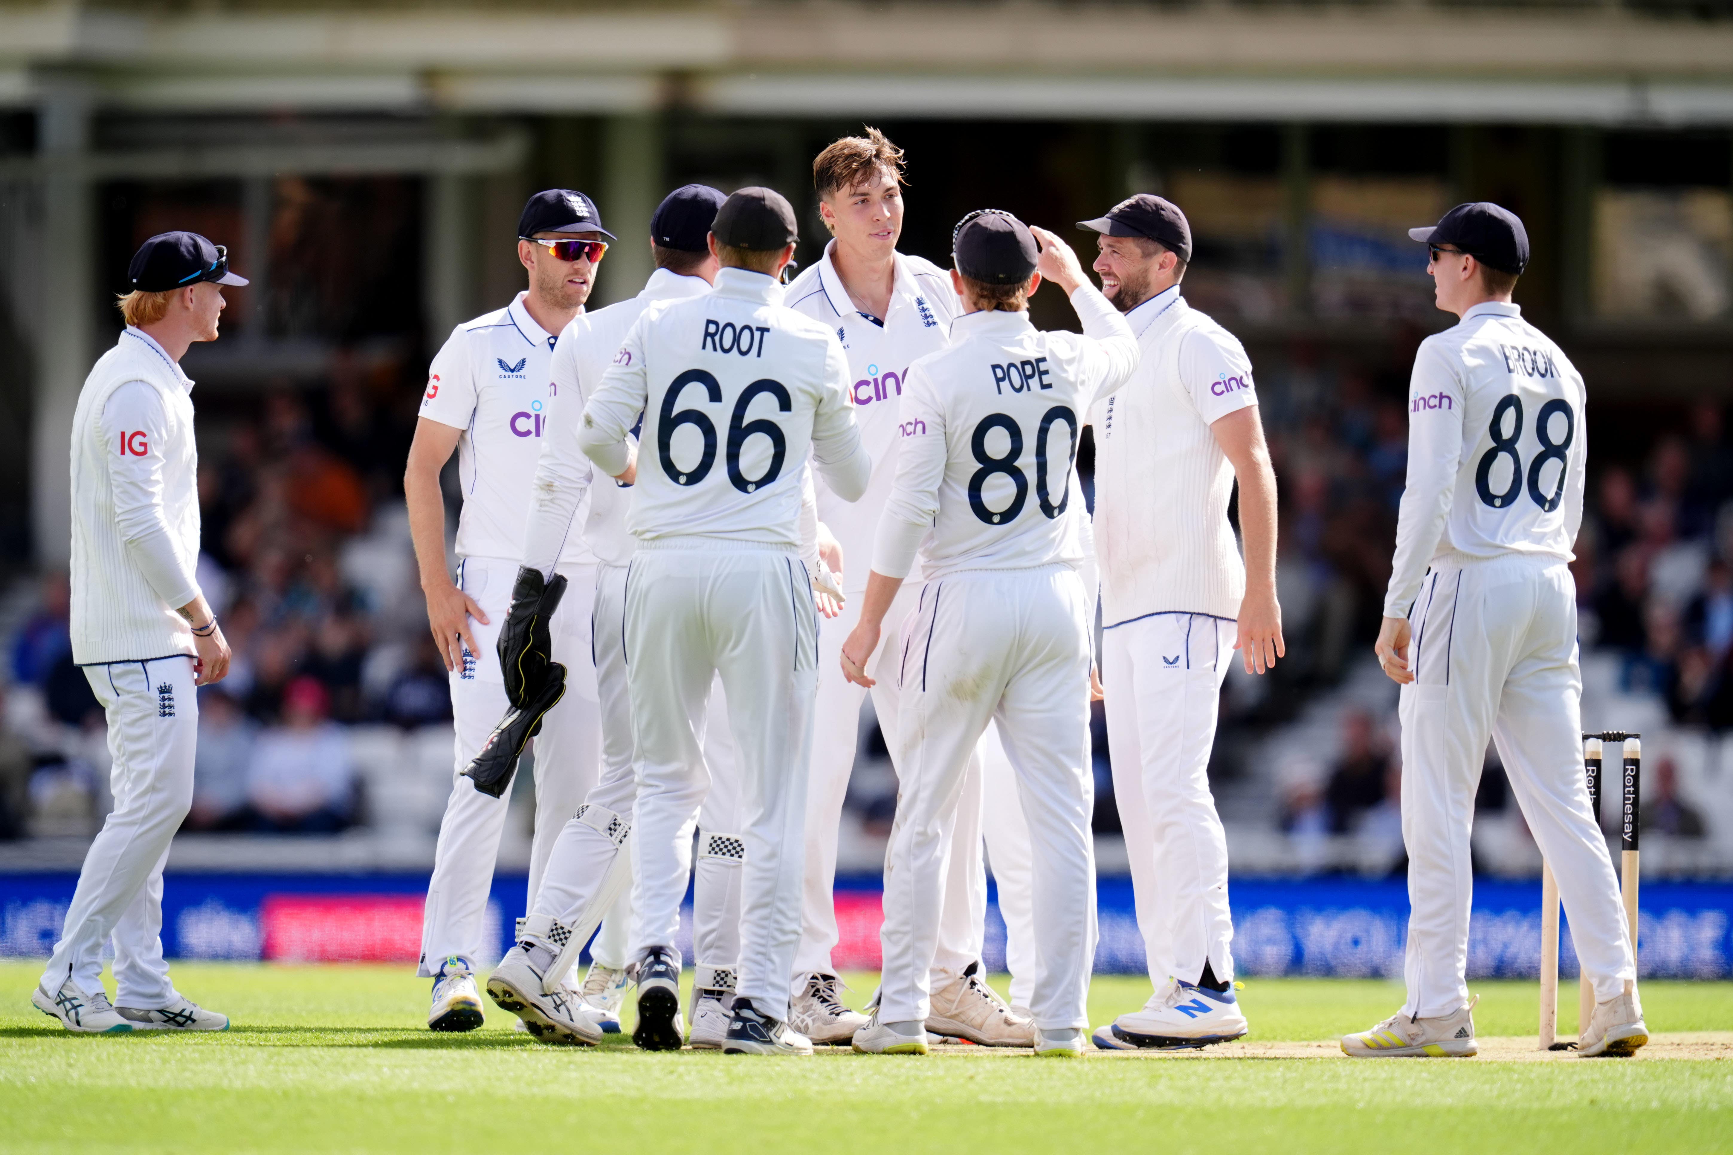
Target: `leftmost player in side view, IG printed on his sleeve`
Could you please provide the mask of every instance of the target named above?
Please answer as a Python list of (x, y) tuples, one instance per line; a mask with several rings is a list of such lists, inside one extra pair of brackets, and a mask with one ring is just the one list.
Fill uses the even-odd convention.
[[(114, 809), (29, 1001), (78, 1032), (227, 1030), (175, 990), (159, 933), (168, 843), (192, 807), (196, 687), (229, 672), (196, 580), (199, 459), (180, 358), (217, 339), (222, 286), (246, 281), (194, 232), (146, 241), (127, 279), (127, 329), (85, 377), (71, 447), (73, 661), (107, 717)], [(118, 1006), (102, 987), (109, 937)]]

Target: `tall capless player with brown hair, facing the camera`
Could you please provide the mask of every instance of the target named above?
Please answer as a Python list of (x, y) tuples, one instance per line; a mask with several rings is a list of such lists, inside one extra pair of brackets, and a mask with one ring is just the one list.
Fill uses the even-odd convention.
[[(837, 542), (842, 561), (842, 590), (847, 601), (839, 629), (825, 629), (818, 637), (818, 705), (813, 727), (813, 779), (806, 802), (806, 868), (802, 888), (801, 947), (794, 959), (794, 1003), (790, 1023), (815, 1042), (846, 1044), (866, 1022), (841, 997), (841, 978), (830, 961), (837, 945), (835, 873), (837, 836), (842, 800), (860, 741), (863, 686), (839, 674), (842, 639), (860, 620), (861, 594), (873, 533), (891, 497), (896, 478), (898, 426), (908, 367), (943, 350), (950, 343), (951, 322), (962, 305), (950, 275), (932, 261), (896, 251), (903, 232), (903, 151), (877, 128), (865, 137), (842, 137), (813, 161), (813, 187), (818, 213), (832, 234), (823, 256), (789, 287), (787, 301), (808, 317), (834, 329), (849, 360), (849, 388), (861, 442), (872, 455), (872, 481), (860, 502), (849, 502), (818, 485), (818, 516)], [(854, 559), (849, 565), (849, 559)], [(905, 590), (887, 611), (886, 634), (896, 637), (903, 620), (915, 610), (917, 590)], [(873, 705), (879, 727), (892, 753), (896, 743), (898, 686), (887, 677), (896, 660), (896, 646), (882, 646), (868, 658), (877, 670)], [(991, 729), (991, 727), (990, 727)], [(996, 734), (983, 739), (983, 750), (996, 745)], [(991, 752), (998, 755), (996, 750)], [(1029, 1046), (1033, 1041), (1026, 1016), (1005, 1004), (979, 975), (983, 919), (986, 916), (986, 876), (981, 862), (983, 772), (981, 758), (972, 758), (964, 778), (964, 800), (957, 807), (955, 829), (946, 831), (951, 855), (946, 902), (943, 907), (939, 947), (934, 956), (934, 1013), (929, 1029), (943, 1036), (967, 1037), (979, 1044)], [(995, 769), (1003, 767), (998, 757)], [(1002, 795), (1009, 790), (1009, 767), (998, 779)], [(995, 840), (993, 861), (1017, 861), (1014, 836), (1016, 814), (988, 831)], [(1026, 843), (1026, 838), (1022, 840)], [(1007, 845), (1010, 843), (1010, 845)], [(1002, 907), (1012, 925), (1012, 949), (1021, 951), (1028, 930), (1017, 914), (1022, 892), (1000, 887)]]

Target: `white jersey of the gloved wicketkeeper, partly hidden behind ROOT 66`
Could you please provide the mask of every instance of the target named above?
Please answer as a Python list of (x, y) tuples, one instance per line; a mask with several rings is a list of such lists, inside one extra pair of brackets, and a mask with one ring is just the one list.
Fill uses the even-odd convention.
[(626, 528), (631, 487), (600, 474), (579, 448), (584, 403), (601, 384), (626, 334), (650, 305), (704, 296), (709, 291), (711, 282), (704, 277), (657, 268), (638, 296), (574, 317), (560, 334), (549, 367), (548, 419), (542, 423), (534, 506), (523, 539), (525, 566), (551, 577), (574, 537), (581, 537), (603, 565), (624, 566), (631, 561), (636, 545)]

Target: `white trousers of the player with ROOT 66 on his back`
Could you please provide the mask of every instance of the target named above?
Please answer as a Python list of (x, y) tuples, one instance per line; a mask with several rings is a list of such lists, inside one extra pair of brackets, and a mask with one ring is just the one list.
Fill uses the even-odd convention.
[(745, 852), (737, 990), (775, 1018), (789, 1016), (789, 973), (801, 935), (816, 646), (811, 578), (795, 554), (719, 539), (639, 544), (626, 589), (638, 741), (634, 954), (672, 949), (679, 932), (691, 823), (711, 786), (702, 750), (705, 698), (721, 675)]

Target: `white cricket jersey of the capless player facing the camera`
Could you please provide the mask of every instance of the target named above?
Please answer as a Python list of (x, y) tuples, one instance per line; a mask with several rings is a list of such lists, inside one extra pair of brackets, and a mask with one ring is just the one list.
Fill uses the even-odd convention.
[(785, 296), (795, 308), (835, 331), (849, 358), (849, 400), (861, 443), (872, 455), (872, 481), (860, 502), (846, 502), (818, 485), (818, 516), (842, 544), (842, 590), (866, 589), (879, 514), (896, 481), (898, 412), (908, 367), (950, 343), (951, 322), (962, 313), (951, 277), (929, 260), (898, 253), (896, 282), (884, 324), (854, 308), (825, 246), (816, 265), (795, 277)]

